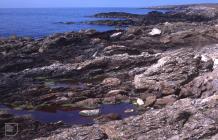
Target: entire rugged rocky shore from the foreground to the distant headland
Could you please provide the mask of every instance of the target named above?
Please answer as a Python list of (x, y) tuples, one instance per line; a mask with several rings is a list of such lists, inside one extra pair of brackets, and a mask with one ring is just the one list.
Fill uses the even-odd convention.
[(19, 122), (17, 139), (216, 139), (216, 14), (201, 6), (102, 13), (95, 16), (131, 24), (127, 30), (0, 39), (1, 110), (94, 111), (85, 125), (1, 111), (1, 124)]

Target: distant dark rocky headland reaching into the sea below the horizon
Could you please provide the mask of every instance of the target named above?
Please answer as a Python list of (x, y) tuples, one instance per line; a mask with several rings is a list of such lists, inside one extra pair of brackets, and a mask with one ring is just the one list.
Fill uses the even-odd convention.
[[(116, 27), (128, 27), (128, 26), (142, 26), (142, 25), (154, 25), (158, 23), (165, 22), (183, 22), (183, 21), (192, 21), (192, 22), (202, 22), (208, 21), (216, 17), (217, 12), (213, 8), (206, 8), (206, 11), (203, 7), (199, 10), (195, 7), (180, 7), (177, 10), (172, 10), (169, 8), (169, 11), (162, 12), (158, 11), (159, 8), (154, 8), (154, 11), (151, 11), (145, 15), (131, 14), (125, 12), (108, 12), (108, 13), (98, 13), (96, 15), (90, 16), (95, 18), (102, 18), (101, 20), (93, 21), (82, 21), (82, 22), (57, 22), (57, 24), (90, 24), (90, 25), (106, 25), (106, 26), (116, 26)], [(160, 9), (161, 10), (161, 9)]]

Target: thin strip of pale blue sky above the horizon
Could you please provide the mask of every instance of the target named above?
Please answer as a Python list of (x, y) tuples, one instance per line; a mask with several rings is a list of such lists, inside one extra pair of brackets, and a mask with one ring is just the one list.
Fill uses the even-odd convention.
[(218, 0), (0, 0), (0, 8), (145, 7), (153, 5), (218, 3)]

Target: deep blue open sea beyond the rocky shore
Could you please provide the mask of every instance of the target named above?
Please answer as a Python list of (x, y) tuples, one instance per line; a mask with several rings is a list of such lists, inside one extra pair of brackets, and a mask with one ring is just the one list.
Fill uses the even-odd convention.
[[(0, 37), (25, 36), (41, 38), (61, 32), (95, 29), (107, 31), (112, 26), (81, 24), (84, 21), (103, 20), (93, 15), (102, 12), (127, 12), (146, 14), (151, 10), (141, 8), (15, 8), (0, 9)], [(74, 22), (75, 24), (61, 24)]]

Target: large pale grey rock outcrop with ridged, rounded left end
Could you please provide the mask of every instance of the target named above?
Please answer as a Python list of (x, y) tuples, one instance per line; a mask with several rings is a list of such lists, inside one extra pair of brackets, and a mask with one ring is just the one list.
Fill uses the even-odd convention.
[(159, 95), (178, 93), (180, 86), (192, 81), (200, 71), (212, 70), (213, 64), (205, 69), (201, 67), (204, 64), (193, 52), (194, 50), (182, 49), (162, 57), (143, 74), (135, 76), (135, 88)]

